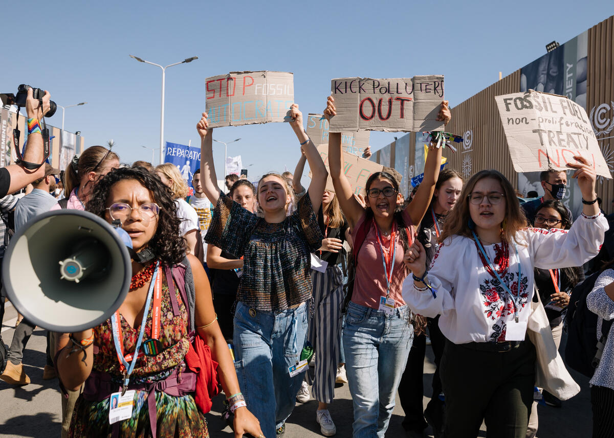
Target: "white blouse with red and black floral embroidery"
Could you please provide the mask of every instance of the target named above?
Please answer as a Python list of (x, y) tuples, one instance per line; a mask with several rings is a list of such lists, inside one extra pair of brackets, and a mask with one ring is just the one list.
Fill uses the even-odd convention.
[[(514, 295), (516, 306), (499, 280), (486, 271), (473, 239), (450, 237), (438, 248), (427, 275), (437, 297), (433, 298), (430, 290), (417, 290), (409, 275), (403, 282), (403, 299), (414, 313), (432, 318), (441, 315), (441, 332), (454, 344), (524, 339), (534, 290), (533, 267), (581, 266), (597, 255), (607, 229), (607, 220), (599, 214), (582, 215), (569, 231), (540, 228), (518, 231), (516, 240), (520, 243), (509, 245), (509, 266), (500, 275)], [(484, 250), (499, 270), (504, 259), (502, 246), (485, 245)]]

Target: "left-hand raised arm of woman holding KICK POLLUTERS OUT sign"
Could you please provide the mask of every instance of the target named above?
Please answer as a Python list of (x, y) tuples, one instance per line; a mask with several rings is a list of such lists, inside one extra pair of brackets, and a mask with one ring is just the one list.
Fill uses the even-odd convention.
[[(330, 118), (335, 114), (335, 99), (332, 96), (328, 96), (324, 117), (330, 121)], [(343, 173), (342, 156), (341, 133), (328, 133), (328, 170), (330, 171), (330, 178), (333, 180), (335, 195), (339, 200), (341, 210), (343, 210), (343, 214), (348, 219), (350, 228), (354, 228), (365, 213), (365, 208), (354, 197), (352, 186)]]

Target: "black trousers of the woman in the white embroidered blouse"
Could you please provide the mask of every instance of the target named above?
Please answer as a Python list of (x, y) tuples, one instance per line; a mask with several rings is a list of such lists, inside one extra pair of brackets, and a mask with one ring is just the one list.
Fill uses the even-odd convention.
[(524, 438), (535, 385), (535, 347), (525, 340), (504, 353), (446, 342), (440, 365), (446, 438)]

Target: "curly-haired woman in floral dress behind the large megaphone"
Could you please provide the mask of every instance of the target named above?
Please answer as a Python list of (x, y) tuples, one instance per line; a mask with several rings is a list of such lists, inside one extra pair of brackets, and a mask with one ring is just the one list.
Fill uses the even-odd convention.
[[(60, 344), (60, 382), (66, 388), (85, 382), (69, 436), (208, 437), (203, 412), (217, 391), (215, 364), (206, 361), (210, 351), (235, 413), (235, 436), (262, 437), (239, 392), (207, 275), (198, 259), (185, 256), (168, 188), (140, 167), (115, 169), (99, 180), (87, 209), (109, 223), (119, 220), (136, 255), (130, 292), (114, 315)], [(191, 342), (193, 327), (206, 344), (203, 350), (198, 339)], [(192, 367), (194, 355), (200, 355), (200, 371)], [(203, 382), (208, 372), (209, 382)], [(116, 408), (112, 398), (118, 399)]]

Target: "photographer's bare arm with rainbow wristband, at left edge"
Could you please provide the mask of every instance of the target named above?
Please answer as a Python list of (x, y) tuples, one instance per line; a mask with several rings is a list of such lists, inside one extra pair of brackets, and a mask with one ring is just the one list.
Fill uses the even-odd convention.
[[(45, 91), (45, 96), (39, 100), (32, 96), (32, 88), (28, 88), (26, 98), (26, 113), (28, 114), (28, 145), (23, 153), (23, 161), (29, 163), (42, 163), (44, 159), (43, 139), (40, 127), (41, 118), (50, 109), (50, 94)], [(32, 128), (32, 129), (30, 129)], [(37, 169), (26, 169), (23, 163), (11, 164), (0, 168), (0, 198), (7, 193), (14, 193), (29, 183), (45, 176), (45, 166)]]

